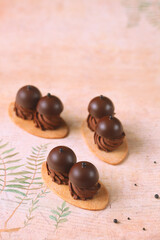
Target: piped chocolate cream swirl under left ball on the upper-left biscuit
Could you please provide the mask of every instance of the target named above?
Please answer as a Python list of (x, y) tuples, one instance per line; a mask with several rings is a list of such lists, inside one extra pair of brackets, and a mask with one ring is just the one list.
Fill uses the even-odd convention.
[(34, 118), (34, 112), (35, 112), (34, 110), (23, 108), (16, 103), (14, 105), (14, 111), (16, 115), (22, 119), (33, 120)]

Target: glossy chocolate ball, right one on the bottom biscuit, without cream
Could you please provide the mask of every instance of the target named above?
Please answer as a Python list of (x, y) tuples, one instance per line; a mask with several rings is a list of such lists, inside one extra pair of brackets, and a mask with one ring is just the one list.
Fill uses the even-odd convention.
[(98, 182), (98, 179), (98, 170), (90, 162), (78, 162), (73, 165), (69, 172), (70, 182), (80, 188), (93, 187)]

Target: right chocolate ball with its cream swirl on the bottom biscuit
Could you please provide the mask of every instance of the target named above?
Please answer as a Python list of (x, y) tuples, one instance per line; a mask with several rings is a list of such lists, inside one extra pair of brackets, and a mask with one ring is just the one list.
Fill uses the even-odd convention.
[(99, 173), (90, 162), (78, 162), (69, 172), (69, 190), (74, 199), (87, 200), (100, 189)]

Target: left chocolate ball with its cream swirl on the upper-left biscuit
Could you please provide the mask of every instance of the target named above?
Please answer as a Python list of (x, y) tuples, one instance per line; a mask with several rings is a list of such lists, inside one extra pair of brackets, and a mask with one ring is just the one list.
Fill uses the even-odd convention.
[(34, 86), (27, 85), (20, 88), (14, 105), (16, 115), (23, 119), (32, 120), (41, 96), (38, 88)]

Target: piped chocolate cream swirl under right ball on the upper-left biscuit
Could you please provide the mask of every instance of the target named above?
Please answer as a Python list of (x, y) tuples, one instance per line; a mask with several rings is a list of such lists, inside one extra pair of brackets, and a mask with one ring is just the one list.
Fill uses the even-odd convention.
[(63, 120), (59, 116), (53, 116), (51, 119), (48, 119), (44, 115), (36, 112), (34, 114), (34, 122), (36, 127), (44, 131), (57, 129), (62, 124)]

